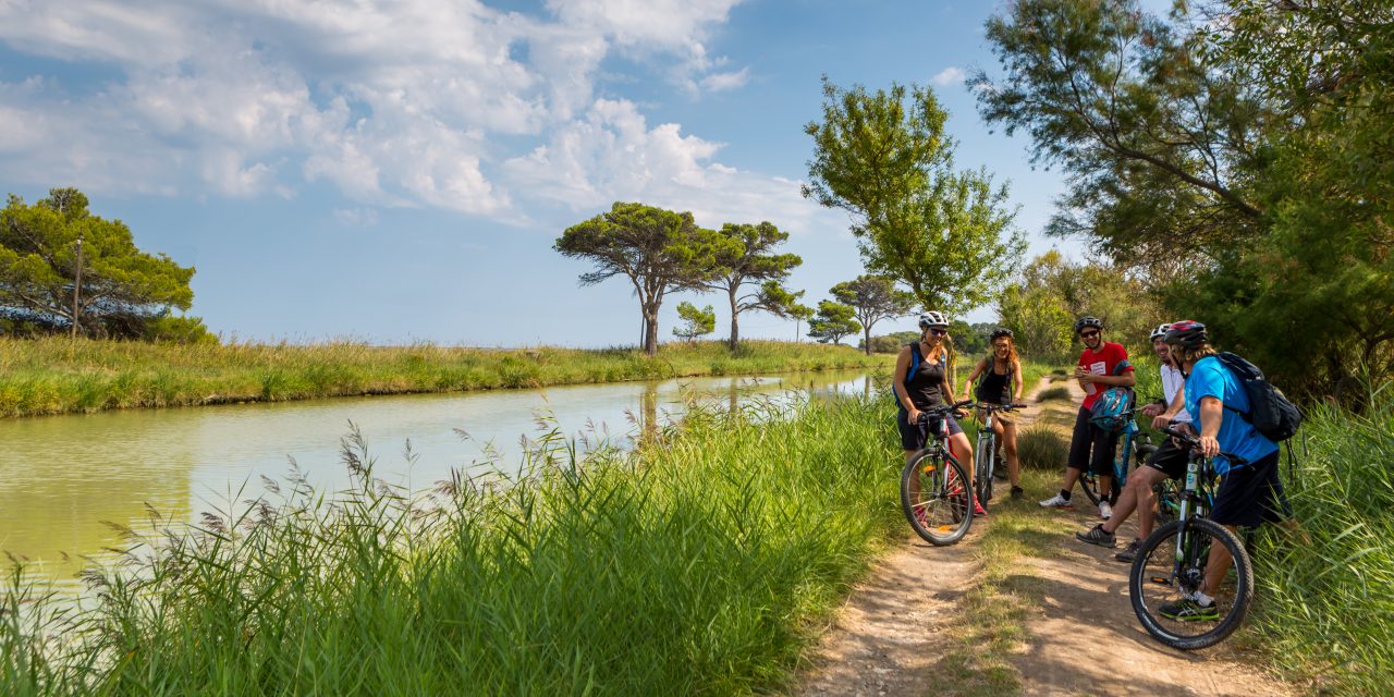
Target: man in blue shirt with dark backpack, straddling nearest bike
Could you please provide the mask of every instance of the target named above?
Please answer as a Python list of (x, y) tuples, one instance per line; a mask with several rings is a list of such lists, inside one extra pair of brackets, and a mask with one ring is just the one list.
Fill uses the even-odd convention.
[[(1164, 340), (1186, 375), (1185, 404), (1200, 425), (1200, 450), (1213, 459), (1216, 473), (1224, 475), (1210, 520), (1234, 530), (1291, 516), (1278, 481), (1278, 446), (1241, 417), (1249, 411), (1249, 396), (1234, 372), (1216, 357), (1206, 325), (1190, 319), (1175, 322)], [(1236, 460), (1221, 457), (1221, 450)], [(1177, 620), (1217, 619), (1220, 612), (1213, 595), (1230, 563), (1224, 545), (1211, 545), (1200, 591), (1163, 605), (1161, 615)]]

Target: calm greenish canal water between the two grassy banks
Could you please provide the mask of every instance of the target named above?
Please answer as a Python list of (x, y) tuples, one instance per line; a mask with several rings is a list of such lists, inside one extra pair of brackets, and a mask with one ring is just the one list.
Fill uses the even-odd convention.
[[(421, 491), (452, 470), (517, 463), (520, 438), (539, 428), (629, 445), (641, 425), (679, 417), (689, 400), (870, 392), (871, 382), (861, 371), (829, 371), (0, 420), (0, 549), (74, 585), (84, 556), (109, 558), (105, 548), (120, 542), (103, 521), (138, 527), (146, 505), (194, 520), (262, 495), (261, 477), (283, 480), (291, 459), (316, 488), (342, 488), (350, 421), (367, 436), (379, 478)], [(539, 427), (538, 417), (549, 422)]]

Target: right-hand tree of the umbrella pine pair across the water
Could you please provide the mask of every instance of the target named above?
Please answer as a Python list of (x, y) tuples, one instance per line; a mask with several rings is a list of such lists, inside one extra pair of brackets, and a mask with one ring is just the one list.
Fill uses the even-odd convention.
[[(726, 293), (730, 301), (730, 350), (740, 344), (740, 314), (763, 309), (781, 314), (779, 302), (788, 290), (779, 286), (789, 272), (803, 263), (795, 254), (774, 254), (789, 233), (781, 231), (774, 223), (735, 224), (726, 223), (712, 236), (712, 256), (715, 270), (712, 279), (703, 283), (707, 290)], [(758, 283), (758, 290), (740, 294), (740, 289)]]

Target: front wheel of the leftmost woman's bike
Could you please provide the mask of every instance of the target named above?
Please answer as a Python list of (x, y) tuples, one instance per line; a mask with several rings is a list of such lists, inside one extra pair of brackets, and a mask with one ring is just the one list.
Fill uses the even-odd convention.
[(901, 510), (914, 534), (931, 545), (952, 545), (973, 524), (967, 474), (952, 454), (921, 450), (901, 473)]

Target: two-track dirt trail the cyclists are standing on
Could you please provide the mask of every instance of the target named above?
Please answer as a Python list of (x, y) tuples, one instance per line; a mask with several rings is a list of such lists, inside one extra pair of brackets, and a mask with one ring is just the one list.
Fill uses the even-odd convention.
[[(1054, 385), (1066, 385), (1057, 382)], [(1069, 438), (1079, 404), (1046, 403), (1020, 421), (1040, 421)], [(1037, 406), (1034, 395), (1027, 401)], [(1033, 500), (1048, 491), (1030, 491)], [(1083, 495), (1076, 496), (1083, 500)], [(1087, 503), (1087, 500), (1086, 500)], [(1041, 510), (1085, 530), (1097, 513)], [(813, 651), (811, 668), (793, 694), (799, 696), (924, 696), (953, 691), (945, 675), (934, 672), (952, 647), (949, 627), (956, 599), (973, 585), (979, 562), (974, 552), (987, 524), (977, 521), (969, 537), (949, 548), (933, 548), (907, 535), (905, 545), (878, 563), (848, 598), (835, 626)], [(1065, 524), (1064, 527), (1069, 527)], [(1132, 539), (1133, 521), (1118, 531)], [(1121, 542), (1124, 544), (1124, 542)], [(1234, 648), (1175, 651), (1154, 641), (1138, 625), (1128, 601), (1128, 565), (1112, 559), (1114, 549), (1076, 542), (1062, 533), (1047, 558), (1026, 558), (1022, 573), (1044, 581), (1044, 599), (1026, 620), (1029, 638), (1012, 659), (1020, 671), (1023, 694), (1196, 694), (1267, 697), (1294, 694), (1284, 683), (1243, 664)]]

